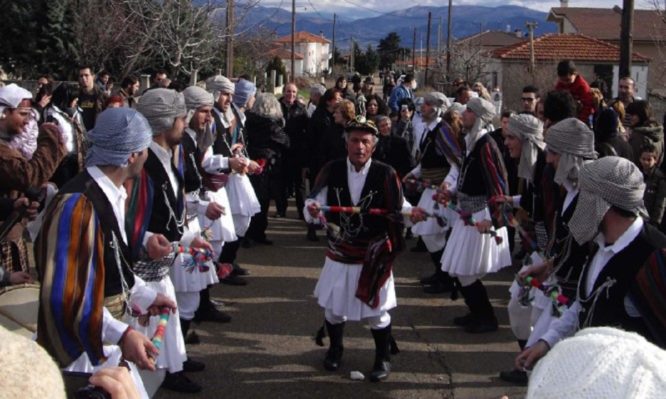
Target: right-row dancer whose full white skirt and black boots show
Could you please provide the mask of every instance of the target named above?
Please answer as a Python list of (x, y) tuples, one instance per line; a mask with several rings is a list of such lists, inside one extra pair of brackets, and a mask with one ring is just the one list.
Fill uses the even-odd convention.
[[(481, 278), (511, 265), (506, 227), (501, 227), (504, 204), (490, 201), (508, 192), (502, 154), (486, 130), (494, 116), (495, 106), (489, 101), (472, 98), (467, 103), (462, 115), (465, 155), (460, 170), (451, 171), (453, 176), (458, 174), (457, 186), (449, 187), (450, 194), (457, 191), (460, 211), (472, 218), (455, 222), (442, 256), (442, 270), (458, 278), (470, 310), (454, 323), (469, 333), (497, 330), (497, 318)], [(443, 197), (447, 203), (450, 196)], [(472, 222), (475, 225), (470, 225)], [(488, 234), (491, 230), (496, 237)]]

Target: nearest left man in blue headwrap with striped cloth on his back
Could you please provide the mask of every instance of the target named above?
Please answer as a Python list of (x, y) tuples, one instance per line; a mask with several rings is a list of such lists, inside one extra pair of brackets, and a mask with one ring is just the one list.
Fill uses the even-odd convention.
[[(121, 357), (152, 370), (149, 357), (157, 350), (121, 321), (126, 312), (155, 315), (162, 307), (176, 307), (134, 276), (124, 229), (123, 183), (141, 173), (151, 129), (134, 110), (109, 109), (99, 115), (88, 139), (86, 169), (54, 198), (35, 242), (42, 284), (37, 342), (71, 371), (114, 367)], [(149, 257), (171, 251), (158, 245), (161, 239), (152, 237)]]

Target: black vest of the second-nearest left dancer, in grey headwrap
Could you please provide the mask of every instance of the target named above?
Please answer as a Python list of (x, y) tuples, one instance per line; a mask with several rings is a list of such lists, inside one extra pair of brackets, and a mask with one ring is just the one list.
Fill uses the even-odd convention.
[(173, 242), (180, 241), (180, 238), (183, 236), (185, 204), (182, 190), (183, 178), (173, 164), (171, 164), (171, 168), (178, 180), (178, 187), (176, 187), (177, 197), (174, 196), (171, 181), (162, 163), (153, 150), (148, 150), (148, 159), (146, 160), (144, 169), (148, 173), (148, 176), (150, 176), (154, 186), (153, 203), (149, 204), (149, 206), (152, 206), (152, 211), (150, 223), (148, 223), (148, 231), (163, 234), (167, 240)]

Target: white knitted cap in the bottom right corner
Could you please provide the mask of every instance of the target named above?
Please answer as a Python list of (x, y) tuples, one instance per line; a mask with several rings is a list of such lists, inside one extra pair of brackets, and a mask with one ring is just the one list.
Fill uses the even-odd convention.
[(661, 398), (665, 367), (666, 351), (636, 333), (586, 328), (537, 363), (527, 399)]

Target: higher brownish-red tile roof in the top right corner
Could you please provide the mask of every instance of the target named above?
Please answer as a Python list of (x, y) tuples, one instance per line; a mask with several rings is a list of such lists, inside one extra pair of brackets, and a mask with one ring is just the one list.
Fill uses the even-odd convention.
[[(550, 9), (548, 21), (558, 22), (567, 18), (577, 29), (577, 33), (596, 37), (602, 40), (620, 40), (622, 9), (554, 7)], [(656, 10), (634, 10), (632, 31), (636, 41), (652, 41), (666, 39), (666, 23)]]

